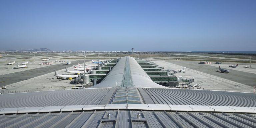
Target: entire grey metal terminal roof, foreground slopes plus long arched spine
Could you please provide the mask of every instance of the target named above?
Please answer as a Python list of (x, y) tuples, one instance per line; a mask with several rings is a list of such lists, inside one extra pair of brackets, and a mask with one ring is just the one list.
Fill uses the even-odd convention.
[(167, 88), (132, 57), (90, 88), (0, 94), (0, 103), (1, 128), (256, 126), (254, 93)]

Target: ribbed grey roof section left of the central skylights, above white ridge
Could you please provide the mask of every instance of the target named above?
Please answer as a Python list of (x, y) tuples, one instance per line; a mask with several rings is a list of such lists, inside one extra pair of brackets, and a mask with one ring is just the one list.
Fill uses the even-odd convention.
[(108, 104), (116, 88), (74, 89), (0, 95), (0, 108)]

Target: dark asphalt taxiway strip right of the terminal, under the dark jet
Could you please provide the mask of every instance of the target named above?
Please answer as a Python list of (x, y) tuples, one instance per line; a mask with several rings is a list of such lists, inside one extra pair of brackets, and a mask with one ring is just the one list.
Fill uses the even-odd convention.
[[(166, 62), (169, 62), (168, 60), (165, 60)], [(171, 60), (171, 63), (180, 65), (183, 67), (187, 67), (193, 70), (197, 70), (203, 73), (211, 74), (214, 76), (218, 76), (224, 79), (228, 79), (231, 81), (235, 81), (238, 83), (242, 83), (249, 86), (256, 86), (256, 74), (254, 73), (248, 73), (248, 72), (242, 72), (237, 70), (229, 70), (229, 73), (222, 73), (219, 71), (218, 67), (209, 66), (207, 64), (199, 64), (196, 62), (189, 62), (189, 61), (173, 61)], [(225, 69), (225, 68), (223, 68)]]

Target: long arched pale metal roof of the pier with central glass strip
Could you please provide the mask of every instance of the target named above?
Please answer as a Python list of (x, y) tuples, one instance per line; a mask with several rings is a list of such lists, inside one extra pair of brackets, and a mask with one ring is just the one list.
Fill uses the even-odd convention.
[(167, 88), (152, 81), (138, 62), (129, 56), (122, 57), (106, 78), (91, 88), (116, 86)]

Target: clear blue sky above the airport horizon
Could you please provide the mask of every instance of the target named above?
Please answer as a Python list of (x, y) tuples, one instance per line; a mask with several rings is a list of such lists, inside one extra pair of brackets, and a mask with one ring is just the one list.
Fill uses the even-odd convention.
[(1, 0), (0, 50), (256, 49), (256, 0)]

